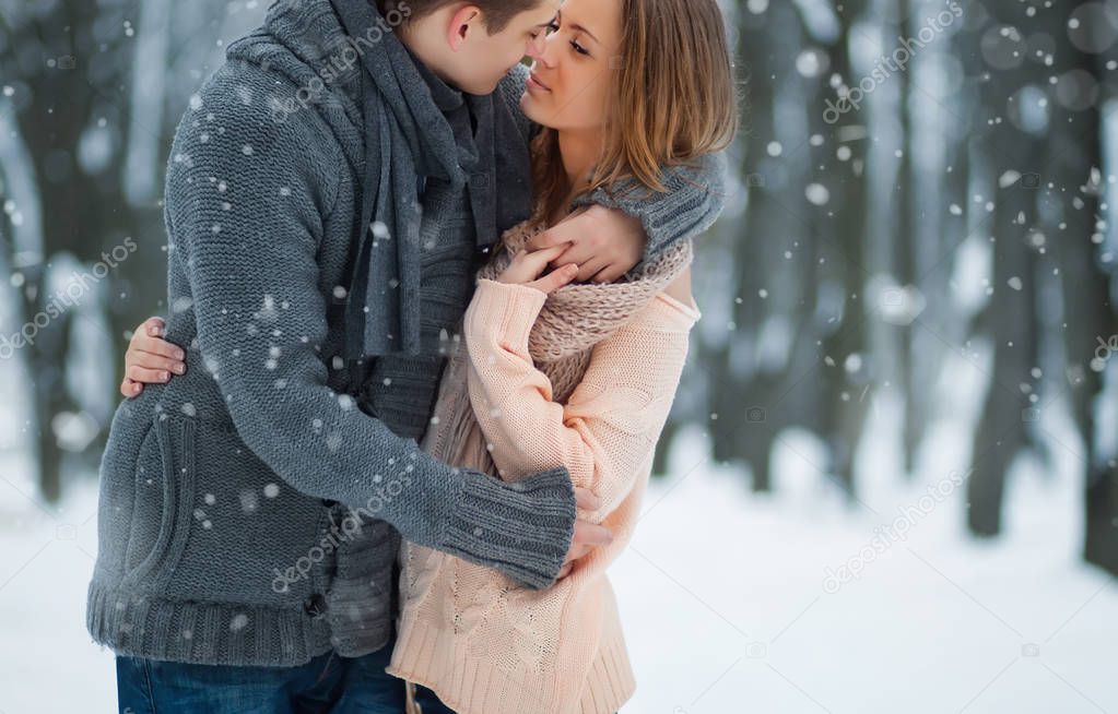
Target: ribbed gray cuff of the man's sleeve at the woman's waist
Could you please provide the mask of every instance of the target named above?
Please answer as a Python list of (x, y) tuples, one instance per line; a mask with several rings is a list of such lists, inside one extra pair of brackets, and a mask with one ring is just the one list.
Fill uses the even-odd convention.
[(438, 550), (541, 590), (555, 583), (575, 536), (575, 487), (563, 467), (506, 483), (462, 472)]

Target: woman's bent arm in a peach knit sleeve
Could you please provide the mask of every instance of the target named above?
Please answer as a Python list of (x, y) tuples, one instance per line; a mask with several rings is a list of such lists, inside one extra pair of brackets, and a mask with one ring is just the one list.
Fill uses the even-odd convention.
[[(684, 275), (678, 283), (685, 287)], [(679, 285), (670, 296), (684, 295)], [(547, 295), (525, 285), (480, 280), (466, 312), (470, 397), (494, 463), (506, 480), (541, 465), (566, 466), (601, 498), (595, 518), (628, 495), (667, 419), (700, 316), (690, 291), (657, 297), (631, 324), (595, 346), (566, 404), (536, 369), (528, 335)]]

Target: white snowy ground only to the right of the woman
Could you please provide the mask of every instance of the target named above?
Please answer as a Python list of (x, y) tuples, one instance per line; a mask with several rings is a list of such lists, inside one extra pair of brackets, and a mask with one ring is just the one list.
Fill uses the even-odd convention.
[[(678, 473), (614, 573), (638, 679), (625, 711), (1118, 712), (1118, 587), (1077, 560), (1077, 494), (1022, 476), (1012, 532), (976, 543), (958, 496), (891, 541), (874, 527), (923, 488), (869, 501), (879, 518)], [(866, 556), (875, 535), (889, 546)], [(854, 561), (860, 578), (827, 579)]]

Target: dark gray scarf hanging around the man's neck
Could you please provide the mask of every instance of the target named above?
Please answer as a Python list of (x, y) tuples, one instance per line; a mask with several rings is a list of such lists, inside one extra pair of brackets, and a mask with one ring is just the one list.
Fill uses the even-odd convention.
[[(350, 38), (388, 27), (366, 0), (331, 2)], [(371, 36), (380, 38), (371, 47), (353, 42), (364, 68), (366, 169), (360, 247), (345, 305), (349, 360), (420, 353), (419, 221), (427, 181), (468, 191), (479, 246), (494, 244), (531, 209), (528, 146), (500, 96), (462, 95), (465, 107), (446, 96), (436, 103), (430, 77), (425, 79), (399, 38)], [(475, 123), (472, 137), (455, 136), (444, 115), (463, 108)]]

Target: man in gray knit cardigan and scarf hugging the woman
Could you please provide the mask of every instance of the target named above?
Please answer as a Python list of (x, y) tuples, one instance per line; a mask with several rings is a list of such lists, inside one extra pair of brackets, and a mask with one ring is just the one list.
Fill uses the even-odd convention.
[[(561, 467), (506, 484), (417, 447), (474, 272), (530, 210), (514, 65), (557, 2), (382, 10), (278, 0), (176, 134), (165, 337), (189, 369), (117, 409), (89, 584), (122, 711), (400, 711), (401, 535), (530, 588), (607, 536)], [(721, 172), (596, 192), (562, 230), (637, 245), (620, 275), (712, 222)]]

